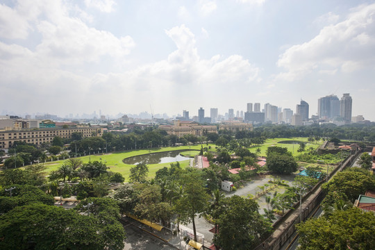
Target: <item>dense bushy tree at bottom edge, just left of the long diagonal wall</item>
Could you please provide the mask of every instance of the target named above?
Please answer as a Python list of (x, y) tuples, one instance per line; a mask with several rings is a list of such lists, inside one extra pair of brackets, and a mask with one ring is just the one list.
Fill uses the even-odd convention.
[(215, 244), (222, 249), (253, 249), (265, 234), (272, 230), (271, 224), (258, 213), (258, 203), (238, 195), (223, 201), (224, 212), (217, 220), (219, 233)]

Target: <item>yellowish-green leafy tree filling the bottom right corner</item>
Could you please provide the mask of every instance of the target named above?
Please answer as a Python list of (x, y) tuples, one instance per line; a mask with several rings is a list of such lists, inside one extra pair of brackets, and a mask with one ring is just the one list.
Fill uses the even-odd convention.
[(375, 215), (358, 208), (335, 210), (330, 217), (297, 226), (301, 249), (375, 249)]

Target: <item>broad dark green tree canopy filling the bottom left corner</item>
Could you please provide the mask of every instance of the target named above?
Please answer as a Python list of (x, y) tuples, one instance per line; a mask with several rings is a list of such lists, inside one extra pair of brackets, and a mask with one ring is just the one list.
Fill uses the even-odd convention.
[(0, 216), (0, 249), (123, 249), (121, 224), (102, 222), (56, 206), (17, 207)]

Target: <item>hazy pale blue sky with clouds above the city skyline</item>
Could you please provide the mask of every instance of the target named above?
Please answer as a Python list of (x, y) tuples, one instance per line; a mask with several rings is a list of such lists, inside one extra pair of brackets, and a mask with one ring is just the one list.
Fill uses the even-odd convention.
[(375, 121), (374, 79), (374, 1), (0, 0), (3, 113), (315, 115), (350, 93)]

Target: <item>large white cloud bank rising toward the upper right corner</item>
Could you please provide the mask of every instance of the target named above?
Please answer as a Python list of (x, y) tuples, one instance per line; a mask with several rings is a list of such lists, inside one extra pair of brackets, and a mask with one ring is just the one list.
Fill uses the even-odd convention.
[(360, 6), (343, 22), (325, 26), (312, 40), (287, 49), (277, 65), (286, 69), (276, 78), (294, 81), (315, 70), (353, 72), (373, 67), (375, 58), (375, 4)]

